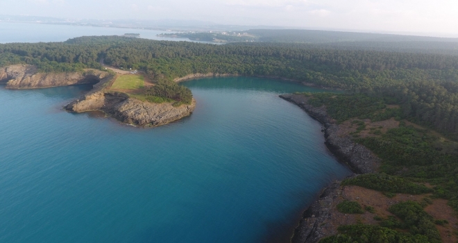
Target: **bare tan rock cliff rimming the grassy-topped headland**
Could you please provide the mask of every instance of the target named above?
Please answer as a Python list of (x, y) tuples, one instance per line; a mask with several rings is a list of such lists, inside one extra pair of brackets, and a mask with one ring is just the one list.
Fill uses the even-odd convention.
[(173, 106), (172, 103), (149, 103), (129, 98), (122, 92), (96, 91), (85, 94), (69, 103), (69, 112), (101, 110), (106, 114), (135, 126), (161, 126), (191, 115), (196, 101), (191, 104)]

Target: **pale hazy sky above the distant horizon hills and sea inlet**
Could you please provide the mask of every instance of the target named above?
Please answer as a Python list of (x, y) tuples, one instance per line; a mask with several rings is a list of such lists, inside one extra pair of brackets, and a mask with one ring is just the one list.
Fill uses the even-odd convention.
[(0, 14), (458, 35), (457, 0), (0, 0)]

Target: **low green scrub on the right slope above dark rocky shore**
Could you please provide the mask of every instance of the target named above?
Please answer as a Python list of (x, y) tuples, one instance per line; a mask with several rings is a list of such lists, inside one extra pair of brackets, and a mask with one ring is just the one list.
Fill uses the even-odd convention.
[[(390, 206), (391, 216), (375, 216), (378, 225), (341, 226), (339, 235), (321, 242), (441, 242), (436, 225), (444, 226), (446, 220), (434, 219), (423, 208), (434, 199), (446, 199), (448, 206), (458, 212), (458, 143), (452, 140), (455, 137), (436, 133), (441, 127), (434, 123), (426, 128), (418, 126), (416, 123), (428, 123), (419, 120), (415, 112), (406, 112), (405, 102), (408, 101), (405, 97), (397, 97), (396, 92), (303, 95), (309, 98), (312, 106), (325, 106), (328, 115), (337, 122), (351, 121), (355, 130), (350, 133), (353, 140), (382, 159), (379, 173), (347, 178), (341, 185), (365, 187), (383, 192), (387, 197), (396, 194), (427, 196), (420, 202), (404, 201)], [(378, 133), (370, 131), (371, 124), (392, 118), (398, 120), (397, 127), (384, 132), (378, 129)], [(364, 132), (368, 133), (362, 135)], [(447, 135), (452, 139), (447, 139)], [(363, 213), (362, 207), (356, 205), (356, 202), (343, 201), (337, 204), (337, 210), (355, 213), (359, 209), (359, 213)]]

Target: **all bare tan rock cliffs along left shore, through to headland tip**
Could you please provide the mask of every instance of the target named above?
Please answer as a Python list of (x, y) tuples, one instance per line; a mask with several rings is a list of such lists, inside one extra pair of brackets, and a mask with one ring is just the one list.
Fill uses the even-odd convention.
[(100, 110), (126, 124), (161, 126), (192, 113), (196, 101), (173, 106), (173, 103), (149, 103), (133, 99), (123, 92), (108, 89), (114, 74), (96, 69), (84, 72), (40, 73), (33, 65), (11, 65), (0, 68), (0, 83), (8, 89), (36, 89), (68, 85), (92, 84), (93, 89), (65, 106), (69, 112)]

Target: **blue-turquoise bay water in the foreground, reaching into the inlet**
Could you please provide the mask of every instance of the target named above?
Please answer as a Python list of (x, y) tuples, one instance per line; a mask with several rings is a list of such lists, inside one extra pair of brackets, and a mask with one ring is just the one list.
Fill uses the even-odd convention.
[(194, 113), (158, 128), (62, 106), (87, 86), (0, 86), (0, 242), (281, 242), (350, 172), (321, 124), (265, 78), (183, 83)]

